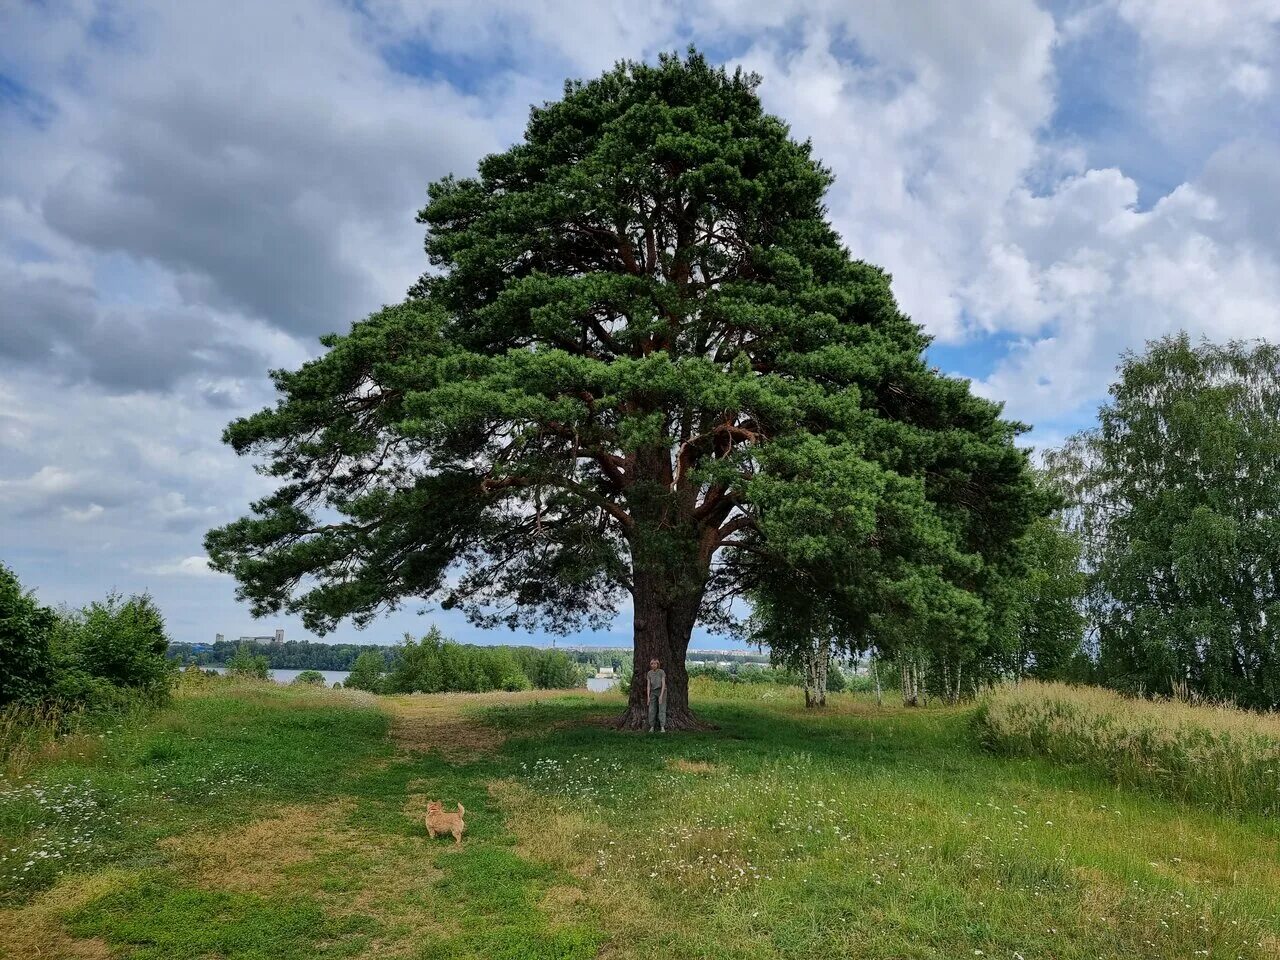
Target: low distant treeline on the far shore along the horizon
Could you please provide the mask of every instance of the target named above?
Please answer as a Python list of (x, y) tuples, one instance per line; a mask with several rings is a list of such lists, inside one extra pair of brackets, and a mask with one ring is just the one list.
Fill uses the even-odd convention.
[[(200, 649), (196, 649), (196, 648)], [(311, 640), (285, 640), (282, 644), (260, 640), (219, 640), (214, 644), (169, 644), (169, 659), (182, 664), (196, 663), (201, 667), (225, 667), (238, 650), (252, 657), (265, 657), (268, 667), (271, 669), (351, 669), (356, 658), (366, 652), (374, 652), (383, 658), (383, 669), (390, 669), (399, 659), (403, 644), (324, 644)], [(511, 646), (508, 649), (524, 650), (538, 649), (531, 646)], [(568, 658), (571, 663), (595, 669), (612, 667), (622, 672), (631, 666), (631, 650), (625, 648), (602, 650), (568, 650), (561, 649), (558, 653)], [(721, 663), (732, 666), (742, 664), (768, 664), (768, 654), (741, 652), (741, 653), (707, 653), (701, 650), (689, 652), (689, 664)]]

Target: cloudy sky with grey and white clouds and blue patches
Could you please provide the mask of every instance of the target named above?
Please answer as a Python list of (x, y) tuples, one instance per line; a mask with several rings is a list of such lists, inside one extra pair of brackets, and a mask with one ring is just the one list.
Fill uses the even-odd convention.
[[(177, 639), (302, 636), (205, 566), (264, 490), (223, 426), (403, 296), (430, 180), (690, 42), (763, 74), (850, 248), (1032, 443), (1148, 338), (1280, 338), (1280, 0), (0, 0), (0, 559), (52, 604), (148, 589)], [(431, 618), (485, 639), (335, 639)]]

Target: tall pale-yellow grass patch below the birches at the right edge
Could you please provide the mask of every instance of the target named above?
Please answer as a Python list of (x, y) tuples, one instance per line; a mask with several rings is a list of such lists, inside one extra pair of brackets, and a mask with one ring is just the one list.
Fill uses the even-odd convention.
[(1280, 813), (1280, 714), (1028, 682), (991, 694), (978, 723), (997, 753), (1226, 813)]

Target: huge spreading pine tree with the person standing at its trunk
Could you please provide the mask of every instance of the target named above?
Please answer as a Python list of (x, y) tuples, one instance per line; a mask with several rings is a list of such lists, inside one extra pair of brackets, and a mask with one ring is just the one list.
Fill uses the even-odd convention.
[(748, 580), (852, 545), (979, 584), (1032, 509), (1018, 428), (925, 366), (756, 84), (695, 52), (622, 64), (431, 184), (408, 300), (228, 428), (282, 480), (207, 538), (256, 612), (324, 631), (436, 598), (568, 630), (630, 596), (623, 722), (658, 658), (689, 727), (690, 634)]

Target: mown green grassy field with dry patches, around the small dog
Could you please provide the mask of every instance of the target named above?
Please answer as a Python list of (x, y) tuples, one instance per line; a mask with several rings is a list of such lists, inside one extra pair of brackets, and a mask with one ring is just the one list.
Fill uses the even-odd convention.
[(0, 785), (0, 956), (1280, 956), (1274, 819), (799, 696), (188, 690)]

